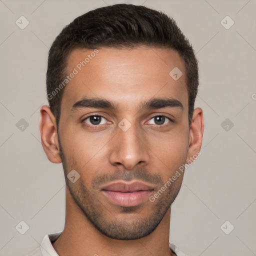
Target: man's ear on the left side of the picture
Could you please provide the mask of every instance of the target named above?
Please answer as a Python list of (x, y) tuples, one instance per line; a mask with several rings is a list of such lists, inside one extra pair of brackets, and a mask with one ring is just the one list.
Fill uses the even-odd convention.
[(49, 161), (60, 163), (56, 121), (47, 105), (43, 105), (40, 108), (40, 134), (42, 148)]

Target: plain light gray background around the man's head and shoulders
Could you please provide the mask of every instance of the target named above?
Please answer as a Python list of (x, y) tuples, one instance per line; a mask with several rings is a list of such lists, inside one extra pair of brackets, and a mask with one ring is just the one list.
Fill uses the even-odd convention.
[[(171, 242), (189, 256), (256, 255), (255, 0), (0, 0), (0, 255), (24, 255), (63, 228), (62, 165), (47, 160), (38, 128), (47, 53), (76, 16), (119, 2), (171, 15), (199, 60), (195, 106), (205, 130), (172, 205)], [(15, 24), (21, 15), (24, 29)], [(29, 226), (23, 235), (21, 220)], [(226, 220), (229, 234), (220, 228)]]

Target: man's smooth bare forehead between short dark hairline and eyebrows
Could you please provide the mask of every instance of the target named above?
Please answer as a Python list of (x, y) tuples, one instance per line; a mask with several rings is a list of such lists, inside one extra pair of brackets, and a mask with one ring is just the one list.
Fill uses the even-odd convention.
[[(175, 80), (172, 70), (183, 74)], [(185, 67), (173, 49), (75, 48), (67, 58), (66, 74), (70, 80), (61, 107), (70, 108), (82, 97), (107, 98), (127, 107), (153, 96), (176, 98), (187, 106)]]

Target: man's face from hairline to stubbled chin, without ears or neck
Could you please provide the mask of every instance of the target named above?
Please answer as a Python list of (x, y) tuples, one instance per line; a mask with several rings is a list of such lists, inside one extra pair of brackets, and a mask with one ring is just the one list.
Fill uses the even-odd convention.
[[(171, 49), (91, 52), (74, 49), (67, 61), (66, 73), (75, 75), (63, 91), (58, 127), (66, 184), (101, 233), (141, 238), (163, 218), (183, 173), (150, 196), (193, 153), (184, 64)], [(169, 75), (174, 67), (183, 73), (177, 80)], [(75, 182), (67, 178), (73, 169)]]

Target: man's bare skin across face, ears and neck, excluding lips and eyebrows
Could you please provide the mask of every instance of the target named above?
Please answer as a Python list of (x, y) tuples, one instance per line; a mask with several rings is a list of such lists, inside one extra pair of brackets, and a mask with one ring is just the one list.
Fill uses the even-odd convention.
[[(49, 107), (40, 109), (43, 149), (51, 162), (62, 162), (66, 179), (65, 225), (52, 245), (60, 256), (175, 255), (168, 245), (170, 205), (183, 173), (154, 202), (134, 207), (115, 205), (100, 187), (111, 180), (140, 180), (154, 192), (160, 189), (200, 150), (202, 109), (194, 109), (189, 127), (185, 67), (176, 51), (145, 46), (98, 50), (64, 88), (58, 132)], [(72, 50), (67, 73), (91, 51)], [(183, 72), (176, 81), (169, 75), (174, 67)], [(71, 110), (84, 97), (107, 99), (116, 109)], [(152, 98), (176, 99), (183, 109), (140, 108)], [(104, 117), (94, 128), (85, 119), (92, 114)], [(155, 121), (159, 115), (167, 117), (164, 124)], [(118, 127), (123, 118), (131, 124), (126, 131)], [(74, 183), (66, 177), (72, 169), (80, 175)]]

